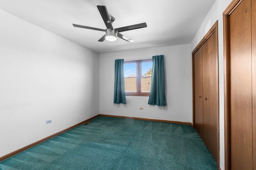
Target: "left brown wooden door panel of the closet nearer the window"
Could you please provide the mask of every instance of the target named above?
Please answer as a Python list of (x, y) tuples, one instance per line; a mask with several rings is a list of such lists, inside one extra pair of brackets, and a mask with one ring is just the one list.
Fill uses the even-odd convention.
[(203, 137), (203, 87), (202, 87), (202, 47), (193, 57), (193, 87), (194, 87), (194, 128)]

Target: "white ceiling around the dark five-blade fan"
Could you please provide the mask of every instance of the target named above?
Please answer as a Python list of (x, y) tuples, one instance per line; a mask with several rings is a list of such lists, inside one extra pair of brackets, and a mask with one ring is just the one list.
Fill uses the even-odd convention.
[[(215, 0), (0, 0), (0, 9), (97, 53), (188, 44)], [(148, 27), (122, 32), (133, 43), (98, 42), (106, 29), (97, 5), (116, 18), (114, 28), (146, 22)], [(1, 23), (0, 23), (1, 24)]]

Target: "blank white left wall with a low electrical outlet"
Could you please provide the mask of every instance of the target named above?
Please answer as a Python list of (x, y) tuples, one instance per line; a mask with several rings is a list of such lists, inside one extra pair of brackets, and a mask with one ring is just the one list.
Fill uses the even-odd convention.
[(0, 21), (1, 157), (99, 114), (99, 55), (2, 10)]

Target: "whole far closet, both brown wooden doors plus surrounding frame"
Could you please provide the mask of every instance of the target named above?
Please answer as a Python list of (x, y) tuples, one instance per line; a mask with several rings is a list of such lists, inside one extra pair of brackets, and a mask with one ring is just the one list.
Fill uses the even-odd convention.
[(219, 166), (218, 21), (192, 54), (194, 128)]

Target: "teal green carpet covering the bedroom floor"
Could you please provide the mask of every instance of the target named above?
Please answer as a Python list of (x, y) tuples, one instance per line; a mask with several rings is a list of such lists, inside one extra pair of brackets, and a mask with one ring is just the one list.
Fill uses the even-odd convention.
[(96, 117), (0, 162), (0, 170), (216, 170), (190, 125)]

